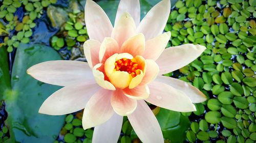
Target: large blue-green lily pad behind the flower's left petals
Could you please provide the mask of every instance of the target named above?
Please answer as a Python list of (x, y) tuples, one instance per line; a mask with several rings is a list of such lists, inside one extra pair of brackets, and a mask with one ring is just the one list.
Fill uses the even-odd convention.
[[(30, 59), (30, 60), (28, 60)], [(12, 69), (12, 89), (5, 94), (10, 130), (10, 142), (53, 142), (65, 120), (64, 116), (49, 116), (38, 113), (42, 102), (59, 87), (42, 83), (26, 71), (29, 67), (50, 60), (60, 60), (54, 49), (20, 44)]]

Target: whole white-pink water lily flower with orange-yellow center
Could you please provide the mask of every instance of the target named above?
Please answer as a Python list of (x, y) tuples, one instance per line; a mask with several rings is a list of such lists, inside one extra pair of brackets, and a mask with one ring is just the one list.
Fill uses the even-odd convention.
[[(195, 111), (205, 95), (187, 82), (163, 76), (194, 61), (204, 46), (165, 48), (163, 33), (170, 1), (155, 5), (140, 21), (139, 0), (121, 0), (114, 27), (105, 12), (87, 0), (85, 20), (90, 40), (86, 62), (48, 61), (32, 66), (37, 80), (63, 86), (42, 103), (39, 112), (65, 115), (84, 109), (82, 126), (94, 128), (93, 142), (117, 142), (127, 116), (142, 142), (164, 142), (161, 128), (147, 103), (169, 110)], [(145, 102), (146, 101), (146, 102)]]

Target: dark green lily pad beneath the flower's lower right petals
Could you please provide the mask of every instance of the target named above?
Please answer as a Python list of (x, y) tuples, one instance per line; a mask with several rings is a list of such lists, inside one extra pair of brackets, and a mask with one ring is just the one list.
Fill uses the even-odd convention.
[(156, 118), (164, 138), (168, 138), (172, 142), (183, 142), (185, 140), (185, 131), (190, 124), (187, 117), (181, 115), (180, 112), (161, 108)]

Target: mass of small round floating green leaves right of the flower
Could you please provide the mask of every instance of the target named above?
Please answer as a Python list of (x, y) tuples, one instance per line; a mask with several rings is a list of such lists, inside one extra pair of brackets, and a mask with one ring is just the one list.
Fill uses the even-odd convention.
[[(206, 5), (199, 5), (202, 3)], [(252, 1), (249, 3), (252, 4)], [(223, 135), (228, 137), (225, 140), (227, 142), (236, 142), (236, 138), (239, 138), (239, 141), (250, 139), (248, 129), (245, 127), (249, 126), (248, 121), (252, 118), (253, 112), (249, 112), (250, 108), (252, 110), (255, 108), (254, 104), (250, 107), (248, 104), (255, 101), (251, 93), (256, 86), (254, 78), (256, 41), (253, 37), (256, 34), (256, 22), (251, 18), (256, 12), (249, 3), (231, 0), (179, 1), (179, 8), (174, 9), (174, 18), (171, 17), (167, 23), (168, 29), (172, 34), (174, 33), (170, 41), (173, 46), (187, 42), (206, 45), (204, 54), (187, 66), (186, 70), (180, 72), (185, 75), (182, 79), (193, 82), (201, 91), (208, 91), (210, 99), (207, 107), (210, 111), (206, 112), (205, 121), (226, 127)], [(176, 27), (177, 16), (181, 13), (188, 17), (179, 21), (179, 24), (183, 23), (185, 28)], [(172, 23), (175, 26), (172, 26)], [(185, 39), (183, 40), (179, 35), (185, 36)], [(216, 98), (212, 97), (212, 94)], [(237, 114), (238, 110), (240, 114)], [(216, 115), (218, 118), (215, 118)], [(241, 121), (237, 124), (234, 119)], [(197, 122), (192, 122), (192, 131), (187, 131), (187, 139), (190, 142), (204, 140), (198, 135), (200, 130), (193, 131), (194, 125), (198, 125)], [(250, 122), (254, 122), (254, 118)], [(237, 130), (237, 126), (242, 127), (241, 123), (244, 127)], [(218, 137), (218, 134), (216, 136), (212, 130), (211, 128), (207, 130), (209, 137)], [(217, 142), (225, 141), (217, 140)]]

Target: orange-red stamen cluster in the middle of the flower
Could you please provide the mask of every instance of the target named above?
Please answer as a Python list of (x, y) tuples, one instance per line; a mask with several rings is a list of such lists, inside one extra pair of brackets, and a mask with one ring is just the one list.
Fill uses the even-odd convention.
[(140, 69), (138, 68), (138, 64), (136, 59), (120, 59), (115, 62), (115, 71), (126, 71), (128, 72), (132, 77), (135, 77), (136, 75), (140, 74)]

